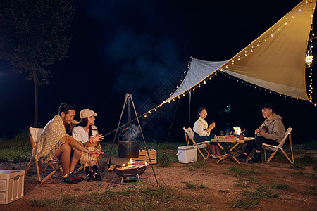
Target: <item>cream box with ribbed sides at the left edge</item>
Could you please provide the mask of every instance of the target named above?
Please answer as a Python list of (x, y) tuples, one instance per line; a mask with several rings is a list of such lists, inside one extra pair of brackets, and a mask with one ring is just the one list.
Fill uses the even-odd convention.
[(24, 170), (0, 170), (0, 204), (8, 204), (24, 193)]

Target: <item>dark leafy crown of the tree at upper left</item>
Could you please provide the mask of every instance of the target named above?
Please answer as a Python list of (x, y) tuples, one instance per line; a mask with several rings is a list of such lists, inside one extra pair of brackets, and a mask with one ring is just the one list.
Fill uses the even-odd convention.
[(46, 65), (66, 57), (75, 7), (67, 0), (2, 0), (0, 3), (0, 58), (27, 79), (46, 84)]

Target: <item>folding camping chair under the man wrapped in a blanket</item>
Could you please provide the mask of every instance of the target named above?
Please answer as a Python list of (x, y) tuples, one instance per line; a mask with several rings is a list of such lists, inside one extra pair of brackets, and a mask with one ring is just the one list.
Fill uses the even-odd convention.
[[(51, 177), (51, 175), (55, 174), (55, 172), (57, 170), (60, 170), (61, 174), (63, 175), (61, 163), (59, 161), (56, 162), (56, 160), (49, 160), (49, 162), (47, 162), (45, 169), (42, 170), (41, 161), (35, 158), (35, 146), (37, 145), (37, 141), (39, 140), (39, 136), (41, 136), (41, 134), (43, 132), (43, 128), (30, 127), (29, 130), (30, 130), (30, 134), (29, 134), (30, 142), (31, 142), (31, 146), (32, 146), (32, 159), (30, 160), (30, 162), (27, 164), (27, 167), (25, 168), (25, 175), (27, 174), (27, 171), (29, 170), (33, 161), (35, 161), (35, 166), (36, 166), (36, 170), (37, 170), (37, 178), (39, 179), (39, 182), (41, 182), (41, 183), (44, 183), (44, 181), (49, 179), (49, 177)], [(54, 167), (54, 165), (57, 165), (57, 167)], [(41, 172), (46, 172), (46, 170), (49, 166), (53, 169), (53, 171), (42, 180), (40, 170), (41, 170)]]

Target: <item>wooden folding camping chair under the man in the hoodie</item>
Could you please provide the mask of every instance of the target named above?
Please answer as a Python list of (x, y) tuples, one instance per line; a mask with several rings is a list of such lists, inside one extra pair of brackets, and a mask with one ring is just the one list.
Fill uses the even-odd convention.
[[(285, 132), (285, 136), (282, 139), (282, 141), (280, 141), (280, 143), (278, 144), (278, 146), (272, 146), (272, 145), (268, 145), (266, 143), (263, 143), (262, 146), (264, 148), (264, 160), (266, 161), (266, 163), (270, 162), (273, 158), (273, 156), (275, 155), (275, 153), (278, 151), (278, 149), (280, 149), (282, 151), (282, 153), (284, 153), (284, 155), (286, 156), (287, 160), (290, 161), (290, 163), (294, 164), (294, 155), (293, 155), (293, 149), (292, 149), (292, 139), (291, 139), (291, 132), (292, 131), (292, 127), (289, 127), (287, 129), (287, 131)], [(290, 160), (290, 158), (286, 155), (285, 151), (282, 149), (287, 136), (290, 139), (290, 151), (291, 151), (291, 155), (292, 155), (292, 161)], [(273, 153), (271, 154), (270, 158), (268, 158), (268, 160), (266, 160), (266, 150), (269, 151), (273, 151)]]

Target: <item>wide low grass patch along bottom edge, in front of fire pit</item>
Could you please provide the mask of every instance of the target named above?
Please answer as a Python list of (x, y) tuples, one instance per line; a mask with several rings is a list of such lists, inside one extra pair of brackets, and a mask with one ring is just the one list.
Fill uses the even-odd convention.
[(32, 205), (49, 210), (212, 210), (211, 203), (201, 196), (182, 196), (166, 186), (123, 189), (33, 200)]

